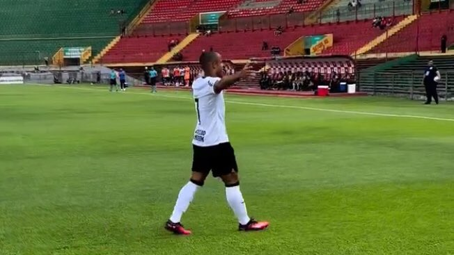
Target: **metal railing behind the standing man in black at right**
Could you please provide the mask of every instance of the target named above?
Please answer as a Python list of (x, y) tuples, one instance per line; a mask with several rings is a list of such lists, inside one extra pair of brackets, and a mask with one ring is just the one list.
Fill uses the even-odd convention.
[[(421, 72), (361, 72), (357, 81), (361, 92), (412, 100), (425, 98)], [(454, 100), (454, 71), (441, 72), (437, 90), (440, 99)]]

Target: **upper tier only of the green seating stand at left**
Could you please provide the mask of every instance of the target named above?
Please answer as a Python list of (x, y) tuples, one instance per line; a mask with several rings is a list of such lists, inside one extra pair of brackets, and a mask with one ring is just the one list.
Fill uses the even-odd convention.
[[(1, 1), (1, 38), (118, 35), (118, 22), (132, 19), (147, 0)], [(89, 7), (89, 8), (87, 8)], [(115, 14), (111, 14), (114, 10)], [(116, 14), (125, 10), (125, 14)]]

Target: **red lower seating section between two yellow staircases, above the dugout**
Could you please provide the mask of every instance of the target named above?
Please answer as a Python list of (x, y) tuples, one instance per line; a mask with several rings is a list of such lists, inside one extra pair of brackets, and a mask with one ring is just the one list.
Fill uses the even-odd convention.
[[(401, 19), (396, 18), (397, 20)], [(351, 33), (361, 31), (361, 34)], [(300, 28), (288, 28), (282, 35), (274, 35), (274, 31), (248, 31), (237, 33), (219, 33), (210, 37), (201, 36), (182, 50), (185, 60), (196, 60), (200, 53), (212, 48), (219, 51), (226, 59), (245, 59), (271, 56), (269, 51), (263, 51), (266, 41), (271, 47), (285, 49), (302, 35), (322, 35), (332, 33), (334, 46), (326, 49), (324, 54), (352, 54), (368, 41), (384, 31), (372, 28), (370, 22), (343, 22), (340, 24), (322, 24)], [(248, 42), (247, 44), (237, 42)]]

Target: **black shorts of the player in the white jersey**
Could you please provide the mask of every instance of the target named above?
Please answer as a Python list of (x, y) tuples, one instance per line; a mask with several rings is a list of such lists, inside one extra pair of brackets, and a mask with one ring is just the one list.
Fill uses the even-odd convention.
[(208, 174), (212, 171), (214, 177), (238, 172), (235, 151), (230, 142), (221, 143), (210, 147), (192, 145), (194, 156), (192, 171)]

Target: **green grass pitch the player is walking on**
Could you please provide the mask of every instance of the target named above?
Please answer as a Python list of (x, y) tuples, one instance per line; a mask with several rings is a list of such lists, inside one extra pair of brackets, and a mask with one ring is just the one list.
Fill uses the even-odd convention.
[(454, 254), (454, 104), (226, 95), (250, 215), (191, 167), (191, 95), (0, 85), (0, 254)]

